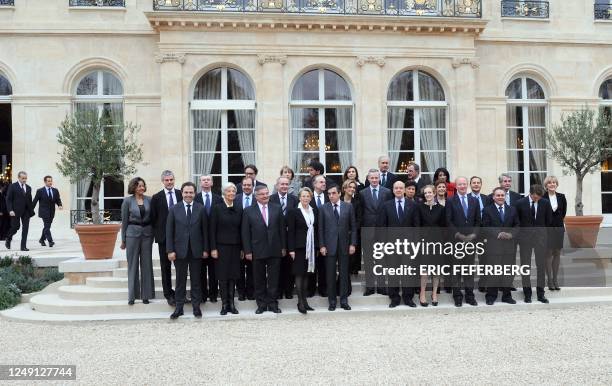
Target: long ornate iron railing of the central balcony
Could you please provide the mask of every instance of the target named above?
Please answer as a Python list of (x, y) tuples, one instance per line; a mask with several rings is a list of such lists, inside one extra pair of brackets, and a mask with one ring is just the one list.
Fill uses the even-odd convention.
[(482, 16), (482, 0), (153, 0), (155, 11)]

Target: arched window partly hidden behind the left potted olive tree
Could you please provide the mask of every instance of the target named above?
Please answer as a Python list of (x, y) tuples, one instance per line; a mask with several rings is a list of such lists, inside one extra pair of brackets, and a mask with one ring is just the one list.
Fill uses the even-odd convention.
[[(95, 70), (83, 76), (77, 83), (74, 95), (74, 111), (96, 112), (99, 117), (108, 119), (111, 124), (123, 123), (123, 85), (113, 73)], [(91, 209), (93, 185), (86, 178), (77, 183), (77, 209)], [(100, 209), (117, 210), (119, 216), (121, 203), (125, 196), (123, 180), (105, 178), (100, 190)]]

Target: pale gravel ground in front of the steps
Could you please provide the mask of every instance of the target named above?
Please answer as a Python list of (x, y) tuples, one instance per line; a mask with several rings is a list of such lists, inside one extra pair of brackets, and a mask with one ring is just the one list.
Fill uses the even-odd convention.
[[(326, 311), (322, 311), (326, 312)], [(0, 364), (83, 384), (612, 384), (612, 306), (72, 325), (0, 319)]]

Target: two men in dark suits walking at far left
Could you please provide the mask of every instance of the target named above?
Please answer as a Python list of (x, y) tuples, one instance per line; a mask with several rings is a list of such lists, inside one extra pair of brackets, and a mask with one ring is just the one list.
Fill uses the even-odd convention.
[(6, 249), (11, 249), (13, 236), (21, 228), (21, 250), (29, 251), (28, 230), (30, 218), (36, 214), (34, 211), (36, 205), (38, 205), (38, 217), (43, 221), (43, 230), (38, 241), (43, 247), (47, 246), (47, 242), (49, 247), (55, 245), (51, 235), (51, 224), (55, 218), (55, 207), (62, 209), (59, 190), (53, 187), (53, 177), (45, 176), (44, 186), (36, 190), (32, 198), (32, 188), (27, 181), (28, 174), (20, 171), (17, 173), (17, 181), (10, 184), (2, 195), (4, 205), (0, 206), (0, 216), (3, 221), (8, 221), (10, 224), (4, 242)]

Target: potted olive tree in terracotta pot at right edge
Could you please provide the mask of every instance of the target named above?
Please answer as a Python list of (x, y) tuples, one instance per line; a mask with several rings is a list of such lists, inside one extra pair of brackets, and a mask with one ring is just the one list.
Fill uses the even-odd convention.
[(573, 248), (594, 248), (597, 243), (601, 215), (585, 216), (582, 203), (582, 182), (587, 174), (599, 169), (612, 155), (610, 115), (588, 107), (561, 117), (547, 134), (550, 155), (561, 165), (563, 174), (576, 176), (575, 216), (565, 217), (565, 229)]

